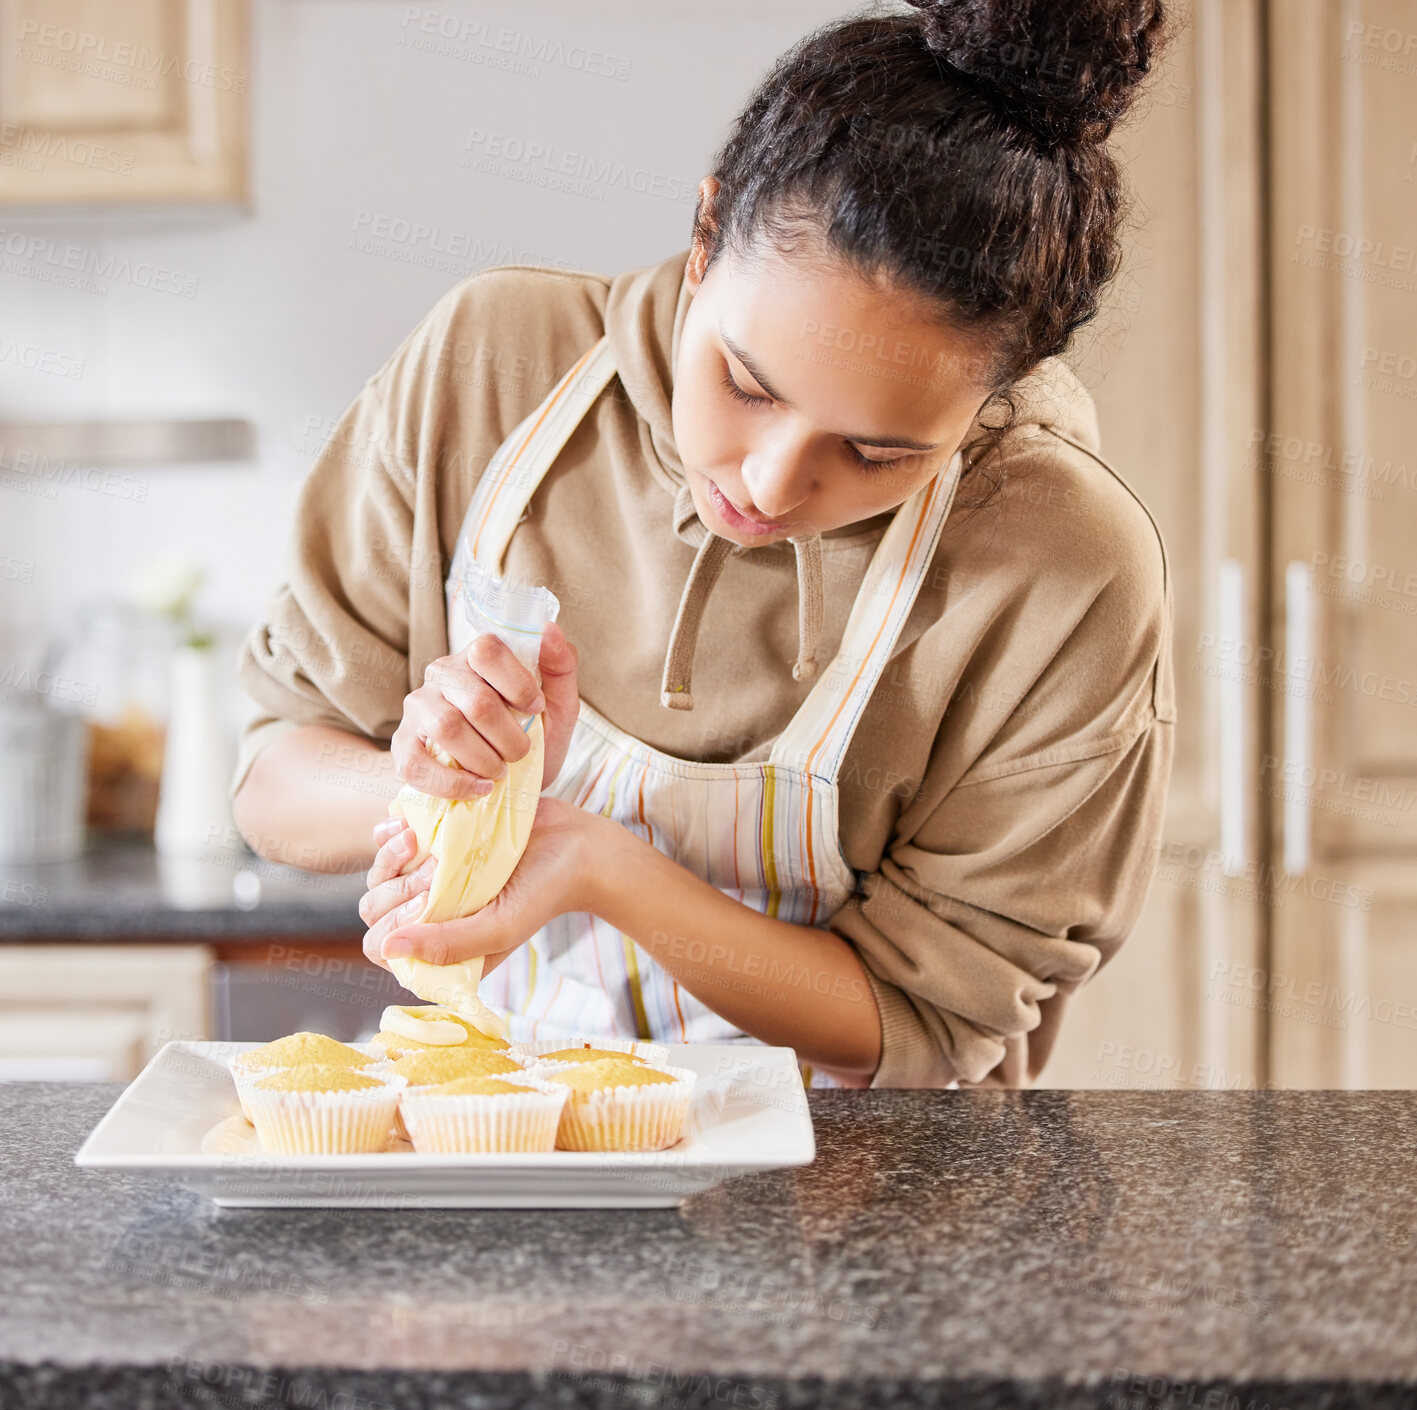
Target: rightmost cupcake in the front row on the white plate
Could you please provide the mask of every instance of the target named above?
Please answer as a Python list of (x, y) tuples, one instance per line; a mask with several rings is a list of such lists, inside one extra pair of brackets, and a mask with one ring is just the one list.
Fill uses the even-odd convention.
[(616, 1054), (594, 1063), (534, 1067), (533, 1076), (570, 1088), (557, 1149), (663, 1151), (684, 1134), (694, 1088), (687, 1067), (650, 1067)]

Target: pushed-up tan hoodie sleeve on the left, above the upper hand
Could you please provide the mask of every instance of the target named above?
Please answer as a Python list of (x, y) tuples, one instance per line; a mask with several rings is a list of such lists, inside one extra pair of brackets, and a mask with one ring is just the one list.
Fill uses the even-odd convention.
[(329, 432), (296, 502), (286, 581), (238, 656), (261, 713), (241, 737), (231, 796), (261, 750), (299, 726), (387, 744), (404, 697), (445, 655), (446, 540), (507, 418), (533, 394), (462, 364), (483, 366), (489, 330), (524, 288), (507, 269), (455, 285)]

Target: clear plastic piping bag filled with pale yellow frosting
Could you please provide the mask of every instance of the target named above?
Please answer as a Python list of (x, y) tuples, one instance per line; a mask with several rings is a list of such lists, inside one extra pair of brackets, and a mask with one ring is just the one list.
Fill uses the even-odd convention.
[[(541, 629), (554, 622), (561, 609), (560, 599), (550, 588), (523, 587), (507, 582), (487, 571), (463, 540), (466, 568), (456, 597), (472, 626), (472, 636), (485, 632), (500, 638), (541, 683)], [(390, 816), (408, 819), (418, 839), (418, 852), (404, 867), (412, 872), (429, 857), (438, 864), (428, 889), (428, 900), (417, 924), (459, 920), (482, 910), (516, 870), (526, 852), (541, 796), (546, 737), (540, 714), (519, 721), (531, 745), (526, 755), (492, 781), (492, 792), (482, 798), (434, 798), (405, 784), (388, 805)], [(451, 754), (436, 744), (425, 748), (441, 764), (461, 768)], [(394, 978), (428, 1003), (452, 1009), (473, 1027), (493, 1037), (502, 1037), (506, 1025), (502, 1017), (478, 998), (482, 982), (482, 958), (463, 959), (452, 965), (431, 965), (424, 959), (401, 955), (388, 961)], [(439, 1022), (436, 1015), (415, 1020), (405, 1010), (394, 1017), (394, 1027), (417, 1026), (407, 1036), (425, 1043), (455, 1044), (466, 1040), (461, 1025)], [(407, 1022), (400, 1022), (407, 1020)], [(388, 1026), (388, 1025), (385, 1025)]]

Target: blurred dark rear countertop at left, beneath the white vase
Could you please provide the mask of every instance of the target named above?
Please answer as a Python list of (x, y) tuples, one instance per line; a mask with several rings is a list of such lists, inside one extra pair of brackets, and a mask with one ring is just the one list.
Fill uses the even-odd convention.
[(159, 856), (149, 839), (95, 835), (74, 862), (0, 866), (0, 942), (364, 937), (364, 872), (330, 876), (247, 849)]

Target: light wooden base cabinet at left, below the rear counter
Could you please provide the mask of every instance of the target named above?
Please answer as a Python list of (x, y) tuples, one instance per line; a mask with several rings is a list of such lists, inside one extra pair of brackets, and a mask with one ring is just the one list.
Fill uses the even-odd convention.
[(130, 1081), (211, 1036), (207, 945), (0, 945), (0, 1078)]

